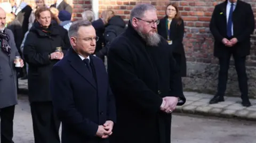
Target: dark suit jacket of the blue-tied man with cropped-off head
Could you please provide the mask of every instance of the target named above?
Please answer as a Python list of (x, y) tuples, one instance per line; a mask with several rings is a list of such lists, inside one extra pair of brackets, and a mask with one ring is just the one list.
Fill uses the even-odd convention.
[(210, 30), (215, 39), (214, 56), (223, 57), (230, 50), (235, 50), (238, 56), (246, 56), (250, 54), (251, 42), (250, 35), (254, 30), (254, 15), (250, 4), (243, 1), (237, 1), (237, 5), (233, 12), (233, 31), (238, 43), (234, 47), (226, 47), (222, 43), (223, 38), (227, 38), (227, 1), (215, 6), (210, 22)]

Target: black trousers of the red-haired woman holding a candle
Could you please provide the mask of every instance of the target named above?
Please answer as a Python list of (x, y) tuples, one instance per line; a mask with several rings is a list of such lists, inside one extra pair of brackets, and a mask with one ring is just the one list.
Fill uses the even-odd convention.
[(60, 143), (60, 121), (53, 111), (52, 102), (30, 104), (35, 143)]

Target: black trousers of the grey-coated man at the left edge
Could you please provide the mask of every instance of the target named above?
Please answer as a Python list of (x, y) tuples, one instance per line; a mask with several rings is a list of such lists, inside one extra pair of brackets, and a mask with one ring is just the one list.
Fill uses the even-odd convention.
[(13, 117), (15, 105), (1, 108), (1, 143), (13, 143)]

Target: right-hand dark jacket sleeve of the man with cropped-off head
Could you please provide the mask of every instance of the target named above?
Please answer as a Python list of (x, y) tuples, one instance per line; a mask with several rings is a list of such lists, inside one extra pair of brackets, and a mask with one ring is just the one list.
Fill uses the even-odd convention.
[(252, 6), (250, 4), (247, 4), (247, 8), (244, 10), (246, 11), (246, 15), (247, 15), (247, 18), (246, 18), (247, 21), (244, 21), (244, 22), (246, 22), (247, 24), (246, 24), (246, 27), (244, 27), (243, 33), (236, 37), (238, 42), (242, 42), (244, 40), (250, 39), (251, 34), (253, 33), (255, 28), (255, 21), (254, 21)]

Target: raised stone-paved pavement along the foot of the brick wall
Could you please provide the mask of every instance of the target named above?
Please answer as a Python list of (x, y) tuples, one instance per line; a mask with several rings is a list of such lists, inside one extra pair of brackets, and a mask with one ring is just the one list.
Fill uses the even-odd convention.
[[(19, 80), (19, 88), (27, 90), (27, 80)], [(250, 99), (252, 106), (243, 107), (241, 98), (225, 97), (225, 102), (209, 105), (213, 95), (199, 94), (197, 92), (184, 92), (187, 102), (183, 106), (177, 106), (174, 112), (197, 114), (205, 116), (221, 116), (256, 121), (256, 99)], [(255, 141), (256, 142), (256, 141)]]

